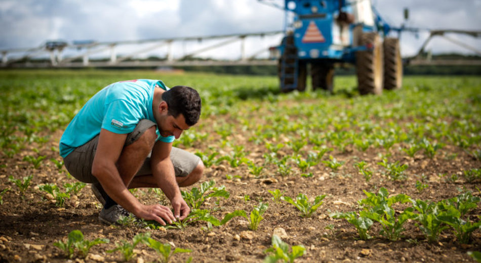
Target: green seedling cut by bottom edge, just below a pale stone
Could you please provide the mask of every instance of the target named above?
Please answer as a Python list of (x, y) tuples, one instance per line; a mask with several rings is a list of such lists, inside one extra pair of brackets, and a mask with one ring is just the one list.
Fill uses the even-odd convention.
[(272, 246), (266, 249), (265, 253), (269, 253), (269, 255), (265, 257), (264, 263), (273, 263), (279, 260), (293, 263), (296, 258), (306, 253), (306, 248), (303, 245), (290, 248), (289, 245), (278, 236), (272, 235)]

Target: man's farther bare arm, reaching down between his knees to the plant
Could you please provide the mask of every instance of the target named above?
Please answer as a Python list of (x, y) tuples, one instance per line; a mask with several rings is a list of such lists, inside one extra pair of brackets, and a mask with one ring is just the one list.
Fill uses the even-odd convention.
[(150, 163), (157, 185), (172, 203), (174, 216), (183, 220), (190, 213), (190, 208), (182, 198), (175, 179), (174, 165), (170, 159), (171, 150), (172, 143), (157, 141), (152, 149)]

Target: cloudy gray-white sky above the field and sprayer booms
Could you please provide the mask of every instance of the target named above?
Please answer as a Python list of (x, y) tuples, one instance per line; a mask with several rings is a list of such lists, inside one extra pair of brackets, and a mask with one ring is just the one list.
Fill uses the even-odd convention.
[[(264, 0), (269, 1), (276, 2)], [(393, 26), (405, 23), (425, 29), (481, 30), (481, 0), (373, 0), (373, 4)], [(403, 18), (404, 8), (410, 10), (408, 21)], [(0, 50), (33, 48), (56, 39), (140, 40), (276, 31), (283, 26), (283, 11), (258, 0), (0, 0)], [(402, 55), (414, 55), (428, 35), (427, 31), (402, 33)], [(253, 39), (246, 44), (247, 53), (277, 45), (280, 37)], [(448, 37), (481, 50), (481, 38)], [(176, 52), (200, 45), (186, 47), (184, 43), (178, 47), (183, 50)], [(473, 54), (442, 37), (433, 38), (428, 50)], [(215, 52), (240, 53), (238, 46)]]

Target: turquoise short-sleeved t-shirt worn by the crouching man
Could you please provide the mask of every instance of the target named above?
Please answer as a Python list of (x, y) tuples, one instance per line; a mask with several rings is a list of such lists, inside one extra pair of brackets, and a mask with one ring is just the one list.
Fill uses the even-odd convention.
[[(155, 85), (169, 88), (160, 80), (134, 79), (119, 81), (95, 94), (73, 117), (60, 139), (60, 156), (65, 157), (82, 146), (104, 128), (116, 134), (131, 133), (141, 119), (155, 122), (152, 102)], [(162, 137), (156, 129), (157, 141), (171, 143), (174, 136)]]

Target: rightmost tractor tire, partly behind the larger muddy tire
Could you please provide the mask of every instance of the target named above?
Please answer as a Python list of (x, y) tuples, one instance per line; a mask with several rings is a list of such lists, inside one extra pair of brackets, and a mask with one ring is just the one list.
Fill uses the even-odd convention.
[(395, 90), (403, 85), (403, 60), (399, 39), (384, 38), (384, 89)]

